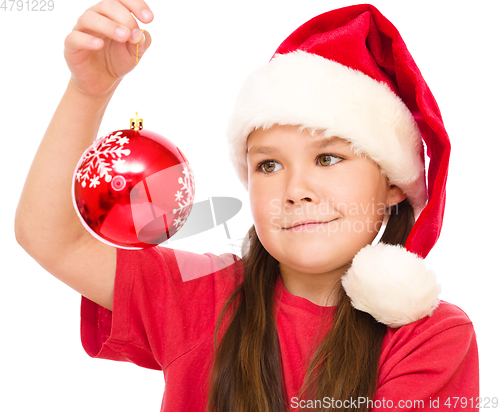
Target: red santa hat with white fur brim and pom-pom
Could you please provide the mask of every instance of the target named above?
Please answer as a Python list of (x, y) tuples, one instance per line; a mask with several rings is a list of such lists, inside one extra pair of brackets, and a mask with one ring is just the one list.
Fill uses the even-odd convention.
[(248, 135), (273, 125), (349, 141), (405, 192), (417, 218), (405, 247), (364, 247), (342, 284), (355, 308), (390, 327), (430, 316), (440, 287), (423, 259), (441, 232), (450, 142), (397, 29), (371, 5), (333, 10), (299, 27), (250, 75), (228, 127), (230, 156), (246, 188)]

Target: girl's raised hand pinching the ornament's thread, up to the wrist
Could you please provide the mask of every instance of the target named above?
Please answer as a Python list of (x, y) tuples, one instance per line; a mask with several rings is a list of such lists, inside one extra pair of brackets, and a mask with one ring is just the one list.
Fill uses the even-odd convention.
[(81, 93), (102, 96), (136, 65), (151, 44), (136, 19), (150, 23), (153, 13), (142, 0), (103, 0), (86, 10), (64, 42), (71, 83)]

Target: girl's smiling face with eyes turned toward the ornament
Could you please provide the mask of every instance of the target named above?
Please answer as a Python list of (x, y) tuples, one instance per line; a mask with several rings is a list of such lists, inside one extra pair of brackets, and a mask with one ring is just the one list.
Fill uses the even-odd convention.
[[(247, 147), (255, 229), (266, 250), (294, 271), (345, 266), (375, 239), (385, 209), (405, 198), (374, 161), (338, 138), (274, 126), (251, 133)], [(271, 150), (259, 152), (263, 147)], [(315, 223), (299, 224), (306, 221)]]

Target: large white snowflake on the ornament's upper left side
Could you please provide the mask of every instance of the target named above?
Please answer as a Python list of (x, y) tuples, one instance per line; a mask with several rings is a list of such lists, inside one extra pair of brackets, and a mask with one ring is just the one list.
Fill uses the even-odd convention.
[(121, 134), (122, 132), (111, 133), (94, 142), (76, 173), (76, 180), (82, 187), (87, 186), (87, 181), (90, 182), (90, 188), (97, 187), (103, 177), (106, 182), (111, 181), (112, 169), (123, 164), (122, 156), (130, 154), (129, 149), (123, 148), (129, 139)]

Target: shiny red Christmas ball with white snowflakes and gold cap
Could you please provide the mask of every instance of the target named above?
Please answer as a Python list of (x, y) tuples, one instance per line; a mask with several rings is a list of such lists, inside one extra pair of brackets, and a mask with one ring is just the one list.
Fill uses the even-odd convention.
[(73, 204), (89, 232), (111, 246), (141, 249), (172, 237), (186, 222), (194, 176), (168, 139), (130, 120), (130, 130), (97, 139), (73, 176)]

